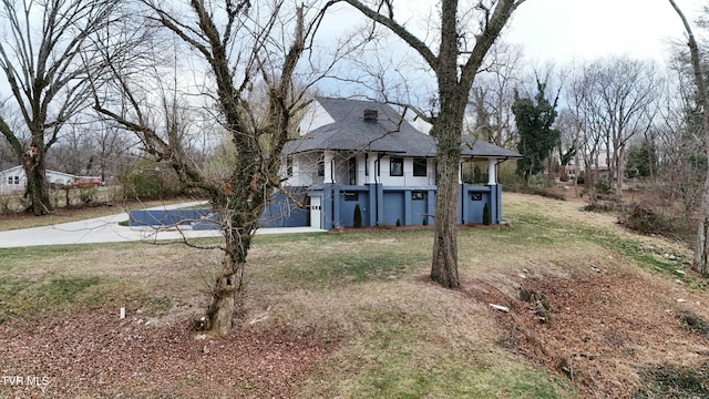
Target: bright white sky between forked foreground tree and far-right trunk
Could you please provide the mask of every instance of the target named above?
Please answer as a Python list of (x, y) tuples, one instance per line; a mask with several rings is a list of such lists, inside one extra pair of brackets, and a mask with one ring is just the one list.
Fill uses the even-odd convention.
[[(707, 2), (676, 3), (700, 33), (695, 20)], [(561, 64), (610, 54), (664, 61), (668, 43), (682, 38), (668, 0), (527, 0), (505, 32), (505, 41), (522, 44), (527, 59)]]

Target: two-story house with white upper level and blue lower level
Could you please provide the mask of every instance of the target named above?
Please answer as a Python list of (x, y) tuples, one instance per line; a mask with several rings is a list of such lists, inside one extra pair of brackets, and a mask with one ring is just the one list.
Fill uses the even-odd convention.
[[(435, 140), (392, 106), (371, 101), (317, 98), (284, 149), (281, 175), (289, 195), (277, 195), (261, 226), (352, 226), (359, 205), (363, 226), (433, 223)], [(458, 222), (502, 222), (497, 166), (521, 154), (464, 136), (459, 168)], [(465, 184), (462, 164), (482, 163), (485, 184)], [(294, 200), (306, 204), (296, 208)]]

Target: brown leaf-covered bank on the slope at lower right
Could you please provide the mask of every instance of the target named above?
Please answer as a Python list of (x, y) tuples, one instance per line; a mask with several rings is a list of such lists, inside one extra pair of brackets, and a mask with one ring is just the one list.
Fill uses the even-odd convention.
[[(706, 298), (697, 293), (615, 269), (517, 283), (545, 297), (548, 319), (538, 316), (538, 305), (511, 297), (484, 279), (464, 280), (463, 290), (476, 300), (508, 307), (508, 313), (490, 308), (501, 329), (499, 344), (566, 375), (585, 398), (631, 398), (645, 383), (645, 370), (701, 368), (709, 361), (709, 339), (678, 317), (687, 309), (706, 314)], [(678, 303), (679, 295), (687, 299)]]

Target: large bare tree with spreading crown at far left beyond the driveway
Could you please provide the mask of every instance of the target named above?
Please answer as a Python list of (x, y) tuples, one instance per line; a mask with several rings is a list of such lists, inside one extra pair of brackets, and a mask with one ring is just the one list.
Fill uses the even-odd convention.
[(29, 142), (0, 121), (0, 131), (24, 167), (28, 211), (51, 212), (44, 180), (47, 151), (64, 124), (84, 105), (85, 78), (95, 68), (91, 37), (110, 22), (119, 2), (110, 0), (2, 0), (0, 69), (22, 114)]

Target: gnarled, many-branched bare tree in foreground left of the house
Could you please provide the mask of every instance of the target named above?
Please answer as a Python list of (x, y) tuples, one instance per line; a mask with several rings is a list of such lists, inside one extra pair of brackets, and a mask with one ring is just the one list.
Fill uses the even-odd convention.
[[(143, 3), (148, 19), (187, 45), (196, 63), (208, 66), (205, 83), (199, 93), (183, 95), (177, 69), (165, 71), (164, 65), (151, 65), (152, 57), (144, 60), (148, 63), (145, 68), (116, 60), (112, 90), (122, 100), (115, 104), (110, 95), (101, 95), (106, 89), (97, 85), (95, 109), (135, 132), (143, 150), (171, 164), (185, 186), (208, 195), (224, 236), (224, 243), (215, 248), (224, 252), (224, 258), (212, 282), (206, 328), (225, 335), (233, 327), (253, 235), (274, 191), (280, 188), (279, 154), (308, 103), (308, 84), (296, 85), (294, 81), (302, 78), (297, 65), (323, 12), (305, 6), (287, 10), (281, 0), (258, 4), (248, 0)], [(316, 13), (309, 22), (308, 11)], [(154, 71), (150, 78), (141, 74), (147, 70)], [(189, 73), (197, 75), (198, 71)], [(163, 90), (157, 101), (157, 93), (143, 90), (148, 80)], [(194, 122), (194, 115), (185, 111), (203, 106), (189, 105), (195, 96), (208, 104), (201, 110), (207, 113), (204, 119), (215, 119), (217, 130), (229, 141), (227, 161), (216, 170), (194, 162), (183, 146), (185, 126)], [(146, 105), (156, 102), (160, 105), (155, 108)], [(201, 129), (214, 127), (204, 122)]]

